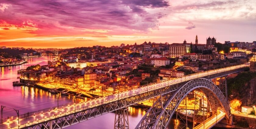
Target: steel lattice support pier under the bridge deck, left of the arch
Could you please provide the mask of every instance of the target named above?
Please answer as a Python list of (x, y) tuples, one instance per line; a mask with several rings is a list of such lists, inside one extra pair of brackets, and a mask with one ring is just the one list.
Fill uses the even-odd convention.
[(127, 108), (116, 110), (114, 129), (129, 129)]

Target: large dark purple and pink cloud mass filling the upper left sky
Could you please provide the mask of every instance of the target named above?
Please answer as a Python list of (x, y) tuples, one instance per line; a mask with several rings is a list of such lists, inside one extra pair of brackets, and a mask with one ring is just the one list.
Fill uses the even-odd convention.
[[(158, 19), (165, 16), (161, 11), (148, 12), (148, 8), (166, 8), (165, 0), (120, 1), (120, 0), (2, 0), (2, 20), (13, 25), (39, 28), (33, 33), (50, 33), (83, 29), (109, 29), (117, 27), (148, 32), (158, 28)], [(6, 5), (12, 5), (7, 7)], [(22, 22), (21, 22), (22, 21)], [(57, 33), (55, 33), (57, 32)], [(49, 31), (48, 31), (49, 34)]]

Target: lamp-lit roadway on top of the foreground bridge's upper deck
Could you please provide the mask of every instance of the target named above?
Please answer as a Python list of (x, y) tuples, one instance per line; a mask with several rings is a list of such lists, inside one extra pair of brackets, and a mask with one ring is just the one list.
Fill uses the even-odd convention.
[[(190, 74), (190, 75), (183, 76), (180, 78), (173, 78), (170, 80), (162, 80), (160, 82), (150, 83), (150, 84), (140, 87), (136, 90), (129, 90), (129, 91), (125, 91), (125, 92), (122, 92), (119, 94), (115, 94), (113, 96), (111, 95), (111, 96), (96, 98), (94, 100), (89, 100), (89, 101), (86, 101), (86, 102), (83, 102), (80, 104), (69, 105), (67, 107), (62, 107), (62, 108), (59, 108), (56, 110), (50, 110), (49, 112), (35, 114), (35, 116), (31, 116), (26, 119), (20, 119), (19, 125), (20, 125), (20, 128), (27, 127), (28, 125), (31, 125), (31, 124), (37, 124), (37, 123), (40, 123), (43, 121), (48, 121), (50, 119), (55, 119), (57, 117), (61, 117), (66, 114), (74, 113), (75, 107), (76, 107), (76, 109), (79, 109), (79, 110), (85, 110), (85, 109), (96, 107), (96, 106), (99, 106), (102, 104), (117, 101), (119, 99), (128, 98), (128, 97), (138, 95), (141, 93), (145, 93), (145, 92), (148, 92), (151, 90), (156, 90), (156, 89), (159, 89), (162, 87), (166, 87), (168, 85), (174, 85), (177, 83), (186, 82), (188, 80), (193, 80), (193, 79), (208, 76), (211, 74), (222, 73), (225, 71), (234, 70), (234, 69), (238, 69), (238, 68), (242, 68), (242, 67), (246, 67), (246, 66), (248, 66), (248, 65), (243, 64), (243, 65), (231, 66), (231, 67), (226, 67), (226, 68), (217, 69), (217, 70), (209, 70), (209, 71), (205, 71), (205, 72), (201, 72), (201, 73), (194, 73), (194, 74)], [(18, 129), (18, 120), (10, 120), (8, 122), (5, 121), (3, 124), (0, 125), (0, 129), (6, 129), (6, 128)]]

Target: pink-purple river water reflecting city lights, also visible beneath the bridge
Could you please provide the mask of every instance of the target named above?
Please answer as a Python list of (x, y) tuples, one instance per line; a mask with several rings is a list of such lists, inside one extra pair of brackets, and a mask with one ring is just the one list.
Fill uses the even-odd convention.
[[(20, 111), (20, 114), (56, 106), (56, 94), (51, 94), (48, 91), (34, 87), (12, 86), (13, 81), (19, 80), (17, 79), (17, 76), (20, 76), (20, 74), (17, 73), (17, 70), (26, 69), (31, 65), (47, 65), (47, 61), (53, 60), (53, 58), (54, 56), (29, 58), (26, 59), (28, 63), (23, 65), (0, 67), (0, 105), (15, 108)], [(59, 104), (66, 104), (72, 101), (72, 98), (66, 96), (61, 96), (59, 98)], [(145, 113), (146, 111), (141, 108), (128, 108), (129, 124), (131, 129), (136, 127)], [(16, 112), (13, 110), (8, 110), (7, 108), (3, 110), (3, 118), (14, 115), (16, 115)], [(108, 113), (91, 120), (66, 127), (66, 129), (113, 129), (114, 120), (115, 113)], [(174, 121), (174, 119), (171, 120), (168, 129), (174, 128)]]

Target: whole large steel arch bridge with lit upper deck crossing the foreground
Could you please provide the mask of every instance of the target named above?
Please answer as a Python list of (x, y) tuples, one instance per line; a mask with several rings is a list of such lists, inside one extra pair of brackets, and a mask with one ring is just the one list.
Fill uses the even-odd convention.
[[(218, 77), (222, 79), (223, 76), (243, 71), (245, 67), (247, 67), (247, 65), (238, 65), (191, 74), (179, 79), (164, 80), (157, 83), (151, 83), (136, 90), (129, 90), (121, 93), (120, 97), (119, 94), (118, 97), (117, 94), (115, 94), (114, 96), (89, 100), (83, 104), (77, 104), (71, 107), (60, 107), (59, 109), (57, 108), (56, 110), (49, 110), (49, 112), (46, 111), (45, 113), (42, 113), (45, 117), (41, 117), (41, 113), (36, 114), (36, 116), (31, 115), (31, 117), (23, 119), (19, 127), (14, 123), (12, 125), (9, 124), (10, 129), (59, 129), (113, 111), (116, 111), (115, 128), (129, 128), (129, 126), (126, 126), (128, 123), (128, 120), (126, 120), (128, 119), (128, 116), (125, 108), (156, 97), (159, 97), (159, 99), (152, 105), (136, 128), (165, 128), (169, 123), (170, 118), (177, 110), (177, 106), (187, 93), (192, 90), (200, 90), (205, 94), (210, 104), (209, 106), (212, 109), (213, 116), (216, 114), (217, 117), (218, 110), (222, 110), (226, 114), (226, 117), (229, 118), (229, 103), (226, 100), (226, 84), (219, 84), (217, 87), (211, 80)], [(163, 120), (163, 118), (167, 119)], [(121, 119), (123, 119), (123, 121), (121, 121)], [(219, 120), (220, 119), (218, 119), (218, 121)], [(216, 120), (216, 123), (218, 121)], [(120, 123), (123, 123), (124, 125), (121, 125)], [(185, 122), (185, 126), (187, 126), (187, 121)], [(1, 126), (0, 124), (1, 129), (2, 127), (6, 126)]]

